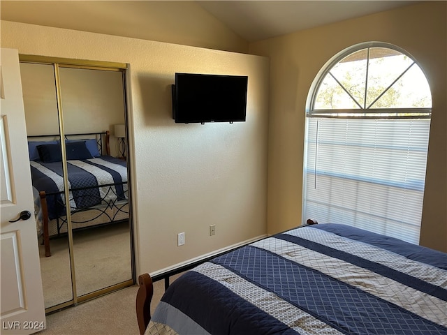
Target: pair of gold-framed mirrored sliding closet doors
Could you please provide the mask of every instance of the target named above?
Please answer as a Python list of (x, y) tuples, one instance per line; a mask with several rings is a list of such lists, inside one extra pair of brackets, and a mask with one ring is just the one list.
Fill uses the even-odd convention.
[(21, 57), (47, 312), (134, 283), (125, 70)]

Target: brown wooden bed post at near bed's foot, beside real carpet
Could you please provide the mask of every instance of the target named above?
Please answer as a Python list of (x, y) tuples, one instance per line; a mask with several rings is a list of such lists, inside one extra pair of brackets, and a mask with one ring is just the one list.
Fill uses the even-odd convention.
[(149, 274), (141, 274), (138, 276), (138, 288), (136, 299), (136, 310), (138, 327), (140, 328), (140, 334), (144, 334), (151, 320), (151, 300), (154, 295), (154, 286), (152, 284), (152, 278)]

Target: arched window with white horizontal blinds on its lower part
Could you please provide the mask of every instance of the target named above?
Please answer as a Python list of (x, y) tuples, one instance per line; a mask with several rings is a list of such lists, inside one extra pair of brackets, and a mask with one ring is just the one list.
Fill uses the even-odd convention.
[(432, 98), (394, 45), (337, 54), (307, 99), (303, 218), (418, 244)]

